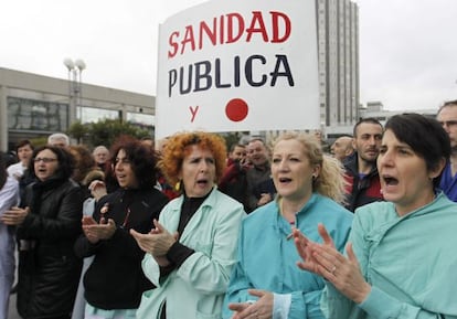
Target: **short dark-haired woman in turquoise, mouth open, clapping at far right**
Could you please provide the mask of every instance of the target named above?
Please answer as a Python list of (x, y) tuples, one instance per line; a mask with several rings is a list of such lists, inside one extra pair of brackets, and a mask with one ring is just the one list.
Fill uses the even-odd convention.
[(417, 114), (385, 125), (378, 170), (385, 202), (355, 210), (346, 255), (295, 230), (298, 266), (326, 278), (327, 318), (457, 318), (457, 204), (437, 189), (450, 142)]

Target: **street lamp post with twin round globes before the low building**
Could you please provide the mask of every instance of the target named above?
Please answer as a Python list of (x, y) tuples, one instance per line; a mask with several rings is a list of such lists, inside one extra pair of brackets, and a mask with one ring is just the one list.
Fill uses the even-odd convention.
[[(64, 65), (68, 70), (68, 99), (70, 99), (70, 124), (79, 119), (83, 121), (83, 70), (86, 64), (83, 60), (65, 59)], [(79, 116), (77, 116), (79, 109)]]

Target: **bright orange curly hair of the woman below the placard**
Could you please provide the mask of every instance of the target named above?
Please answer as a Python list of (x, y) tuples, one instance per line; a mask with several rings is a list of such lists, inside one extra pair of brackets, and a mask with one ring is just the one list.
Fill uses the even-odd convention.
[(190, 153), (190, 146), (196, 145), (202, 149), (210, 150), (214, 157), (215, 181), (221, 179), (226, 166), (225, 140), (212, 132), (192, 131), (179, 132), (167, 139), (167, 145), (162, 149), (159, 161), (159, 169), (167, 181), (174, 185), (179, 180), (179, 173), (184, 158)]

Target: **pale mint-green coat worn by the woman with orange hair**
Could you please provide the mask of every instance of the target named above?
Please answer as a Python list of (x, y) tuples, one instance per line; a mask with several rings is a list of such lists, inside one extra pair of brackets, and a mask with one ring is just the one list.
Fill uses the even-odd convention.
[[(171, 201), (160, 213), (160, 223), (178, 230), (183, 196)], [(194, 249), (185, 262), (166, 277), (150, 254), (142, 260), (146, 276), (157, 288), (142, 295), (139, 319), (157, 319), (167, 301), (167, 319), (219, 319), (235, 263), (235, 249), (243, 205), (214, 189), (189, 221), (180, 243)]]

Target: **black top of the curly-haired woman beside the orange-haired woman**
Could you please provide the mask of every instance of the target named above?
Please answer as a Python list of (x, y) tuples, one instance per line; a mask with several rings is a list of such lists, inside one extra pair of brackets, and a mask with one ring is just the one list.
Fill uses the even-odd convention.
[(81, 235), (75, 244), (79, 257), (95, 255), (94, 262), (84, 275), (85, 298), (100, 309), (138, 308), (145, 290), (153, 288), (141, 269), (145, 252), (140, 249), (129, 230), (148, 233), (153, 220), (167, 204), (168, 198), (155, 188), (144, 190), (118, 189), (99, 200), (94, 219), (100, 220), (100, 210), (107, 204), (106, 220), (117, 225), (109, 240), (91, 244)]

